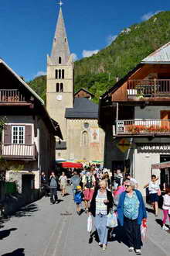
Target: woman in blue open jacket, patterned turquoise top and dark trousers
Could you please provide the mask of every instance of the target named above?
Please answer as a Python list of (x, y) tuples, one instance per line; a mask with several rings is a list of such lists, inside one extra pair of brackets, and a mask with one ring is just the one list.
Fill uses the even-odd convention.
[(141, 255), (141, 221), (147, 218), (145, 203), (141, 192), (134, 189), (134, 182), (126, 180), (124, 186), (126, 190), (117, 206), (118, 220), (124, 226), (129, 251)]

